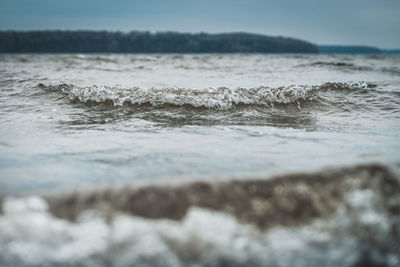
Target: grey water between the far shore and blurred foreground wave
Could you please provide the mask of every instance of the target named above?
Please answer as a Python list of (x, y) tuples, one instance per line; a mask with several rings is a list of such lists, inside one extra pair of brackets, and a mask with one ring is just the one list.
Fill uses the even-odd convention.
[(400, 162), (400, 57), (1, 55), (5, 193)]

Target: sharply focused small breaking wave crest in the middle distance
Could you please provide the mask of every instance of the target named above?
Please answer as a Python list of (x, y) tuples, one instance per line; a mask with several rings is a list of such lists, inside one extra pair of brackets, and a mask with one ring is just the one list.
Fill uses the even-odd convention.
[(153, 107), (189, 105), (194, 108), (229, 110), (238, 105), (271, 107), (296, 104), (300, 108), (301, 101), (318, 100), (319, 92), (368, 90), (375, 88), (376, 85), (366, 82), (328, 82), (321, 85), (260, 86), (236, 89), (219, 87), (199, 90), (180, 87), (140, 88), (98, 85), (79, 87), (73, 84), (44, 85), (40, 83), (37, 87), (60, 92), (71, 100), (82, 103), (112, 103), (114, 106), (151, 105)]

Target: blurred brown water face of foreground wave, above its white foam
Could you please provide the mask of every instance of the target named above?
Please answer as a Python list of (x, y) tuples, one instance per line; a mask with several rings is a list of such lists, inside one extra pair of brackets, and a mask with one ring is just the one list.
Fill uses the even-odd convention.
[[(67, 193), (49, 196), (47, 200), (53, 214), (69, 220), (75, 220), (86, 209), (96, 208), (111, 214), (120, 211), (152, 219), (180, 220), (190, 207), (197, 206), (228, 212), (241, 221), (268, 229), (329, 216), (343, 201), (346, 192), (362, 188), (390, 198), (400, 190), (400, 183), (385, 167), (365, 165), (266, 180), (193, 182), (181, 186)], [(393, 204), (400, 208), (400, 202)]]

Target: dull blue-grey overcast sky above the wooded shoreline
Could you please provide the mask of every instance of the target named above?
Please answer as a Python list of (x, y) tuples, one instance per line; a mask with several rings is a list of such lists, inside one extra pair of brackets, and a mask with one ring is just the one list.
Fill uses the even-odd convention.
[(400, 48), (400, 0), (0, 0), (0, 30), (252, 32)]

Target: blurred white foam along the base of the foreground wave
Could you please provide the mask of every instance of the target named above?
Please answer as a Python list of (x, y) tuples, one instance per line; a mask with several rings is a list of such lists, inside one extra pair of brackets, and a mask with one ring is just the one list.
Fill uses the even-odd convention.
[(49, 214), (42, 199), (36, 198), (34, 205), (32, 199), (8, 199), (0, 215), (0, 263), (353, 266), (372, 242), (378, 247), (372, 248), (372, 258), (398, 266), (400, 258), (394, 253), (374, 255), (388, 244), (390, 229), (398, 227), (394, 218), (379, 209), (379, 199), (369, 189), (353, 191), (331, 218), (266, 232), (200, 208), (192, 208), (181, 222), (121, 214), (107, 223), (100, 214), (88, 210), (72, 223)]

